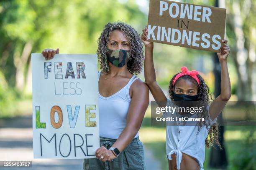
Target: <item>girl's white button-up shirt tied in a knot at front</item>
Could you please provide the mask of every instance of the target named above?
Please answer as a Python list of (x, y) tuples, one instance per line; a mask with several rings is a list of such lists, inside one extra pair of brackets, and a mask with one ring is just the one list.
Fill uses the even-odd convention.
[[(166, 102), (167, 107), (176, 107), (174, 102), (167, 99)], [(209, 115), (209, 106), (207, 106), (207, 114)], [(162, 117), (167, 117), (169, 113), (164, 113)], [(177, 112), (174, 112), (172, 117), (179, 116)], [(197, 117), (197, 113), (190, 116)], [(175, 120), (175, 119), (174, 119)], [(217, 117), (212, 121), (209, 115), (209, 120), (205, 120), (208, 128), (217, 121)], [(202, 125), (198, 132), (197, 121), (186, 121), (186, 125), (184, 125), (183, 121), (175, 121), (175, 125), (166, 126), (166, 156), (169, 160), (172, 160), (171, 155), (173, 153), (177, 154), (176, 163), (177, 169), (180, 169), (180, 163), (182, 160), (182, 153), (190, 155), (197, 159), (201, 170), (203, 170), (202, 166), (205, 161), (205, 139), (208, 135), (208, 130), (206, 125)]]

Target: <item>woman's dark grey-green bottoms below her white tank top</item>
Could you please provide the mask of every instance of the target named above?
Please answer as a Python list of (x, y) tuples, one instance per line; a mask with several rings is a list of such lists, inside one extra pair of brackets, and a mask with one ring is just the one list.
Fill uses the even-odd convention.
[[(100, 146), (109, 149), (115, 139), (100, 137)], [(84, 159), (84, 170), (145, 170), (144, 148), (139, 137), (131, 143), (113, 160), (102, 162), (97, 158)]]

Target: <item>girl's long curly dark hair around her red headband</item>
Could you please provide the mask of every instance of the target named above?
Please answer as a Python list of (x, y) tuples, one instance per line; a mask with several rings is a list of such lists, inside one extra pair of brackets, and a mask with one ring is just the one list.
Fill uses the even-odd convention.
[[(177, 74), (179, 74), (179, 73), (177, 73)], [(172, 79), (170, 81), (170, 85), (169, 85), (169, 97), (171, 98), (172, 101), (173, 101), (172, 94), (174, 93), (173, 80), (174, 80), (174, 77), (176, 77), (176, 75), (174, 75), (172, 77)], [(206, 85), (205, 80), (200, 75), (197, 75), (197, 77), (200, 80), (200, 86), (198, 86), (196, 80), (193, 77), (191, 77), (190, 75), (183, 75), (183, 76), (179, 77), (175, 83), (177, 83), (179, 80), (192, 81), (193, 83), (195, 83), (197, 85), (197, 91), (199, 93), (198, 100), (209, 104), (210, 99), (212, 100), (212, 95), (210, 94), (209, 87)], [(210, 96), (210, 99), (209, 99), (209, 96)], [(206, 112), (202, 112), (202, 113), (198, 112), (197, 117), (204, 117), (205, 120), (210, 120), (210, 117), (208, 116), (208, 114), (206, 114)], [(197, 134), (199, 133), (199, 131), (203, 125), (205, 125), (208, 130), (208, 136), (205, 139), (206, 147), (209, 148), (210, 145), (212, 145), (213, 143), (216, 143), (220, 147), (220, 149), (222, 149), (222, 147), (220, 146), (220, 142), (219, 142), (218, 123), (217, 122), (214, 123), (210, 128), (208, 128), (205, 121), (203, 121), (203, 122), (198, 121), (198, 124), (199, 125), (198, 125), (198, 129), (197, 129), (198, 130)]]

